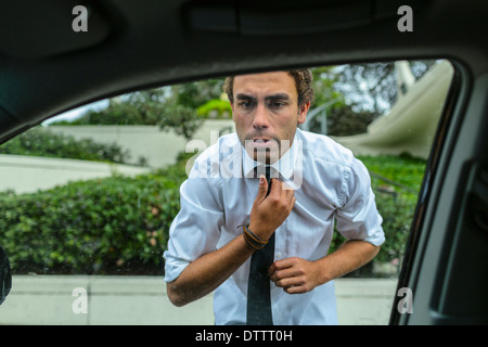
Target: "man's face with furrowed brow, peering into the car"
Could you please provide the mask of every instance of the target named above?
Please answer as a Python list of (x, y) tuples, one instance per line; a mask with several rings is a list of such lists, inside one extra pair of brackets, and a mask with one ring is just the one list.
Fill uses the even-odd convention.
[(232, 114), (239, 140), (255, 160), (275, 162), (292, 145), (310, 103), (298, 106), (295, 80), (286, 72), (234, 77)]

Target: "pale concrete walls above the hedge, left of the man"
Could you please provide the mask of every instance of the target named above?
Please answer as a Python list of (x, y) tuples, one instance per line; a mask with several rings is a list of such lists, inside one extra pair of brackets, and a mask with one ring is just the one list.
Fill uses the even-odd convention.
[[(198, 145), (201, 150), (205, 149), (217, 141), (219, 131), (224, 128), (235, 130), (230, 119), (205, 121), (195, 133), (191, 147)], [(152, 168), (174, 164), (178, 153), (185, 151), (188, 144), (184, 138), (152, 126), (53, 126), (49, 129), (75, 139), (91, 138), (107, 144), (115, 142), (130, 152), (130, 163), (137, 164), (139, 156), (144, 156), (149, 167), (0, 154), (0, 191), (13, 189), (17, 193), (29, 193), (69, 181), (108, 177), (113, 172), (141, 175)]]

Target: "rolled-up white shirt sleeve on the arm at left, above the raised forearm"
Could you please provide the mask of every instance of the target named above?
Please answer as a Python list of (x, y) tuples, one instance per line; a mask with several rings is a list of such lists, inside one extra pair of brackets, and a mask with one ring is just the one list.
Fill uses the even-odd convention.
[(216, 249), (223, 224), (218, 178), (190, 178), (180, 187), (181, 209), (169, 229), (164, 253), (165, 281), (175, 281), (187, 266)]

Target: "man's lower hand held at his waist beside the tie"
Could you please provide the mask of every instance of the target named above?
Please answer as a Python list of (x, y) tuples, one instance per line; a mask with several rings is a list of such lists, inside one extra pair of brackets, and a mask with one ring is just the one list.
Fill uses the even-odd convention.
[(318, 264), (301, 258), (274, 261), (268, 270), (271, 281), (288, 294), (301, 294), (313, 290), (319, 282)]

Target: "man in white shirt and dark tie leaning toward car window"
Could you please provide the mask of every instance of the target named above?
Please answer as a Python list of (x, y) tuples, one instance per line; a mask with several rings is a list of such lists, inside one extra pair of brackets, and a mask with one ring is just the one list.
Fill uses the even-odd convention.
[[(236, 134), (202, 153), (181, 185), (165, 252), (176, 306), (216, 290), (216, 324), (249, 323), (247, 305), (259, 296), (249, 294), (252, 258), (272, 240), (266, 324), (337, 323), (333, 280), (374, 258), (384, 233), (364, 166), (328, 137), (297, 129), (311, 79), (298, 69), (226, 80)], [(273, 168), (270, 183), (255, 174), (262, 165)], [(328, 254), (334, 220), (347, 241)]]

